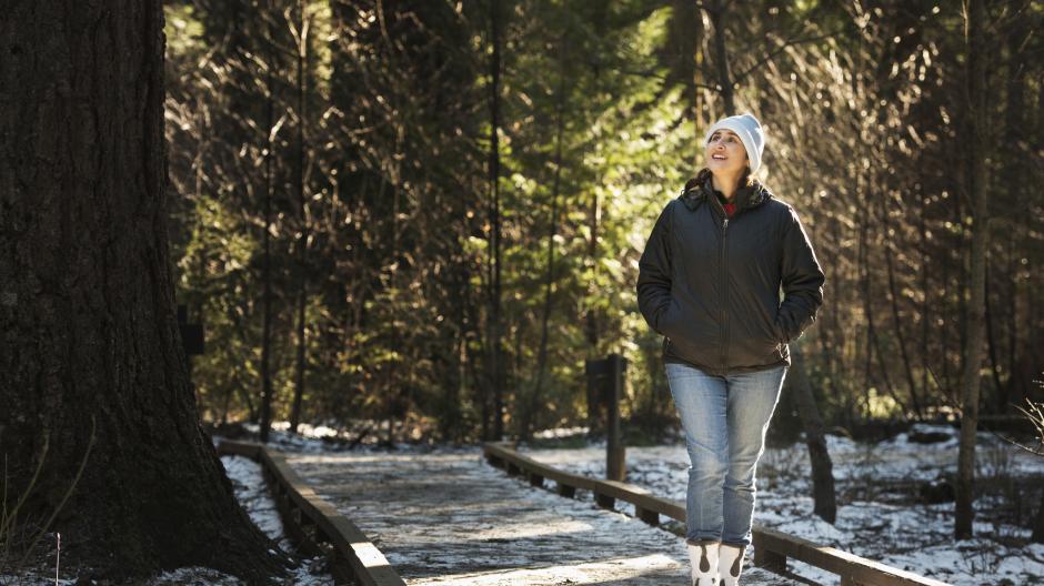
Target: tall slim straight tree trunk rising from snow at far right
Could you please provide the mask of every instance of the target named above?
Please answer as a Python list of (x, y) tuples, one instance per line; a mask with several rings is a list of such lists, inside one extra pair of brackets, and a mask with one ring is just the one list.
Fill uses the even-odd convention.
[(957, 499), (954, 514), (954, 536), (967, 539), (972, 536), (972, 482), (975, 474), (975, 431), (978, 425), (978, 392), (982, 383), (983, 330), (986, 273), (986, 246), (988, 245), (988, 200), (986, 200), (986, 153), (983, 144), (985, 132), (985, 64), (983, 27), (985, 10), (982, 0), (968, 0), (967, 7), (967, 102), (968, 124), (968, 193), (975, 206), (972, 225), (971, 300), (967, 306), (967, 335), (964, 351), (964, 392), (961, 401), (961, 445), (957, 457)]

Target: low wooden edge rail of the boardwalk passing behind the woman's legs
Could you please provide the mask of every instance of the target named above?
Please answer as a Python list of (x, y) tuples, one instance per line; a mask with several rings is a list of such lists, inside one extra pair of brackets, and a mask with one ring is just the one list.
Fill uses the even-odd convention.
[[(661, 498), (640, 486), (570, 474), (524, 456), (506, 443), (484, 443), (482, 452), (490, 465), (503, 468), (509, 476), (523, 476), (533, 486), (554, 481), (558, 493), (568, 497), (574, 497), (578, 488), (591, 491), (604, 508), (623, 501), (634, 505), (634, 516), (650, 525), (659, 525), (660, 515), (685, 523), (684, 503)], [(786, 559), (792, 558), (836, 574), (841, 586), (951, 586), (767, 527), (755, 525), (753, 542), (754, 565), (777, 574), (786, 572)]]

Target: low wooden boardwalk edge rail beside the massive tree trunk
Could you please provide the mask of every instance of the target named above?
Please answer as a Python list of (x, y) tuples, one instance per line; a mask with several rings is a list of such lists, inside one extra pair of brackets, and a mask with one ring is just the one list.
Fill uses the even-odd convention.
[(405, 586), (384, 554), (351, 519), (315, 494), (281, 452), (262, 444), (221, 440), (218, 454), (245, 456), (261, 465), (287, 535), (307, 554), (325, 555), (338, 584)]

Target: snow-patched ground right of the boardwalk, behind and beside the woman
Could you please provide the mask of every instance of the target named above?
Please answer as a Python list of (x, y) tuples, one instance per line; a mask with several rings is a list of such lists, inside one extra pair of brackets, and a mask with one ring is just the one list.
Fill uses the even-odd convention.
[[(911, 440), (918, 434), (936, 434), (941, 441), (923, 444)], [(917, 496), (918, 483), (956, 473), (956, 437), (954, 428), (931, 425), (915, 425), (909, 433), (879, 444), (829, 436), (839, 501), (834, 525), (812, 514), (804, 444), (769, 448), (759, 466), (755, 523), (955, 586), (978, 586), (984, 580), (1044, 585), (1044, 545), (1027, 544), (1031, 532), (1020, 525), (1036, 513), (1044, 457), (1020, 451), (990, 433), (980, 434), (976, 477), (988, 486), (975, 502), (976, 537), (956, 543), (952, 538), (953, 503), (930, 505)], [(604, 477), (604, 444), (525, 452), (569, 472)], [(684, 444), (628, 447), (626, 462), (628, 482), (684, 502), (689, 468)], [(1012, 509), (1013, 496), (1022, 501), (1021, 513)], [(837, 583), (833, 574), (804, 564), (792, 566), (821, 584)]]

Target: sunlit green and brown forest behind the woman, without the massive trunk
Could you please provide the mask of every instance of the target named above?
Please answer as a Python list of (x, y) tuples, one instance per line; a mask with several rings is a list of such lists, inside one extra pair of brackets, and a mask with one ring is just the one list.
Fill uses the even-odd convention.
[[(203, 418), (526, 438), (592, 423), (584, 361), (615, 352), (628, 433), (659, 435), (675, 415), (638, 259), (705, 129), (742, 111), (826, 273), (794, 344), (826, 424), (960, 412), (976, 182), (981, 405), (1017, 413), (1044, 370), (1044, 6), (985, 3), (974, 110), (963, 10), (165, 2), (172, 256), (205, 329)], [(796, 433), (794, 404), (774, 434)]]

